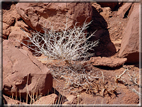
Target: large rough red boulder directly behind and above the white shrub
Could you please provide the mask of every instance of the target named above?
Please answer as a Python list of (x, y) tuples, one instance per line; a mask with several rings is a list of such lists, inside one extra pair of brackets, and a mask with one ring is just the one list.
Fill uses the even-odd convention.
[[(43, 32), (43, 27), (59, 31), (68, 28), (76, 22), (82, 25), (87, 19), (91, 21), (92, 8), (90, 3), (18, 3), (17, 12), (22, 19), (34, 30)], [(68, 18), (66, 18), (68, 17)]]

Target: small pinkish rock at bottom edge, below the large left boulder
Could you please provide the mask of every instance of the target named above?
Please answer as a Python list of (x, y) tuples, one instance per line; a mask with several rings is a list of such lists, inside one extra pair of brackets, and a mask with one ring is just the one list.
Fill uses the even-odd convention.
[(56, 104), (58, 96), (56, 94), (50, 94), (44, 97), (41, 97), (39, 100), (34, 102), (33, 104)]

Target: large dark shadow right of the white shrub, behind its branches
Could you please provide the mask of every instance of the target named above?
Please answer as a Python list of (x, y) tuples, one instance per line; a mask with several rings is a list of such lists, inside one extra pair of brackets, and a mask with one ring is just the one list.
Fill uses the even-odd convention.
[(99, 14), (99, 12), (92, 6), (93, 15), (92, 15), (92, 24), (88, 28), (89, 34), (96, 31), (95, 35), (90, 38), (89, 41), (99, 40), (97, 47), (94, 47), (95, 56), (109, 57), (116, 53), (116, 48), (110, 40), (109, 31), (107, 29), (107, 22)]

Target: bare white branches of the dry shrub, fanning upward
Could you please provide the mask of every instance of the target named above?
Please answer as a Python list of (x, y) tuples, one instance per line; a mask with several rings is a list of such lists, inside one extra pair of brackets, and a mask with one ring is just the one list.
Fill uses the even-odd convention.
[(29, 42), (34, 47), (36, 46), (37, 49), (32, 48), (32, 45), (26, 45), (24, 42), (21, 44), (34, 50), (37, 54), (44, 54), (49, 59), (62, 59), (67, 61), (78, 60), (80, 58), (87, 59), (92, 56), (92, 54), (88, 53), (88, 50), (91, 50), (92, 47), (98, 44), (98, 41), (87, 42), (95, 34), (94, 32), (86, 37), (87, 33), (84, 33), (90, 23), (84, 22), (82, 27), (74, 26), (72, 29), (67, 29), (66, 23), (65, 30), (61, 30), (60, 32), (54, 31), (52, 27), (51, 30), (44, 28), (44, 34), (39, 32), (32, 33), (33, 37), (29, 37), (25, 33), (29, 38)]

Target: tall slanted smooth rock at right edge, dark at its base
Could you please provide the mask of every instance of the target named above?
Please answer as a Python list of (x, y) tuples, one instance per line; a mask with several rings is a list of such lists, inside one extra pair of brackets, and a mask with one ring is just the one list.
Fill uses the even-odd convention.
[(123, 38), (119, 57), (126, 57), (127, 62), (139, 62), (139, 3), (134, 4)]

